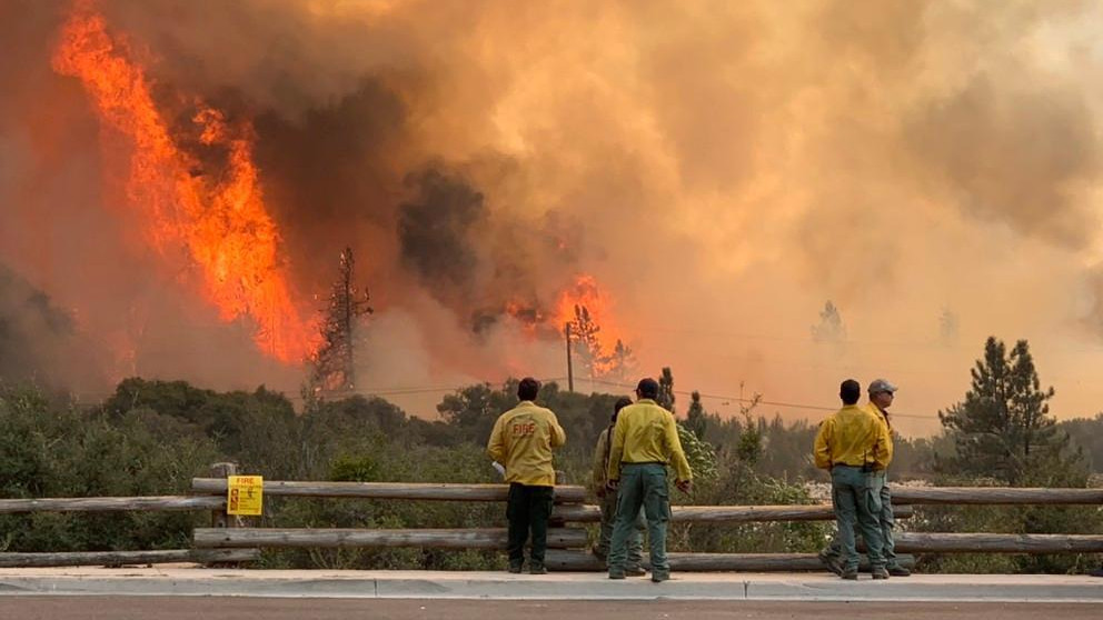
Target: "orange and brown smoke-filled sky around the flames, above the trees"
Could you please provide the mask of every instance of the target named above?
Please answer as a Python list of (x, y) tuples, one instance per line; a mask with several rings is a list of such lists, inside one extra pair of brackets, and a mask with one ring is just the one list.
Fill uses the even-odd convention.
[[(21, 321), (28, 346), (89, 394), (135, 372), (296, 393), (302, 369), (258, 352), (247, 318), (196, 293), (195, 266), (145, 242), (120, 189), (133, 144), (51, 64), (72, 7), (0, 2), (0, 263), (102, 368), (60, 363), (42, 317)], [(993, 334), (1030, 340), (1057, 418), (1103, 410), (1099, 3), (82, 10), (126, 39), (170, 127), (199, 101), (251, 123), (304, 309), (354, 249), (376, 308), (365, 390), (564, 376), (562, 342), (503, 309), (549, 309), (587, 273), (612, 300), (606, 331), (678, 389), (829, 408), (841, 380), (885, 377), (897, 428), (923, 434)], [(0, 310), (47, 312), (16, 297)], [(827, 300), (838, 343), (813, 338)], [(437, 398), (405, 404), (431, 416)]]

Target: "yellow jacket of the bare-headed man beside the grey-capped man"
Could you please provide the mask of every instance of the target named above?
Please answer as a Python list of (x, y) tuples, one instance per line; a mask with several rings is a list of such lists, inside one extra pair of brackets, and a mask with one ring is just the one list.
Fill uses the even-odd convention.
[(847, 404), (819, 424), (814, 451), (821, 469), (847, 464), (877, 471), (893, 460), (893, 440), (881, 416), (866, 407)]

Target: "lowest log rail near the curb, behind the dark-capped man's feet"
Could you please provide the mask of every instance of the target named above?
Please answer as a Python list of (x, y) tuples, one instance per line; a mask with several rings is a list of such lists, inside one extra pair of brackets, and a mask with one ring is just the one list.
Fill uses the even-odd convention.
[[(676, 571), (739, 571), (739, 572), (797, 572), (825, 571), (824, 563), (815, 553), (668, 553), (670, 568)], [(896, 560), (905, 568), (915, 566), (915, 557), (901, 553)], [(593, 553), (574, 549), (548, 549), (545, 564), (549, 570), (562, 571), (604, 571), (605, 562)], [(644, 566), (647, 554), (644, 553)], [(865, 556), (858, 564), (859, 570), (868, 570), (870, 562)]]

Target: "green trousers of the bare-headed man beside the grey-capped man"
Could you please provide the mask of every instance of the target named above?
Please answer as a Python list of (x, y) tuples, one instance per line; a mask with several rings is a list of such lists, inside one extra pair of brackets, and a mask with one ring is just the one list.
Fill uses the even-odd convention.
[(884, 541), (881, 534), (881, 482), (883, 477), (871, 476), (861, 467), (835, 466), (831, 468), (831, 494), (835, 506), (836, 534), (842, 547), (843, 570), (858, 569), (858, 552), (854, 541), (855, 527), (865, 539), (870, 566), (884, 568)]

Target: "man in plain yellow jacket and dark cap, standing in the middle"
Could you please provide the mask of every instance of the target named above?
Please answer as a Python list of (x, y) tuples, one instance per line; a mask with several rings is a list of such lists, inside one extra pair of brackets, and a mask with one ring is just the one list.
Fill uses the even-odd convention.
[(655, 402), (658, 382), (640, 379), (636, 397), (636, 403), (625, 407), (617, 416), (609, 448), (609, 489), (618, 492), (609, 579), (625, 578), (628, 537), (643, 507), (650, 542), (652, 581), (659, 582), (670, 578), (670, 563), (666, 559), (666, 523), (670, 520), (666, 466), (674, 467), (675, 486), (683, 492), (689, 492), (693, 472), (682, 450), (674, 416)]

